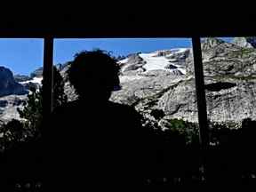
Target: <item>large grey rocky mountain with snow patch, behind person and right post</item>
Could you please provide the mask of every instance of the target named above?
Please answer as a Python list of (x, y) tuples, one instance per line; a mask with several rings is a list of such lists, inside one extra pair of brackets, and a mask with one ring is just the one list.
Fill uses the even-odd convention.
[[(236, 125), (247, 117), (255, 120), (256, 49), (218, 38), (206, 38), (201, 47), (209, 120)], [(76, 100), (66, 74), (71, 63), (59, 68), (66, 81), (68, 100)], [(137, 52), (118, 64), (122, 90), (113, 92), (110, 100), (134, 106), (148, 122), (163, 129), (172, 118), (198, 121), (191, 48)], [(34, 77), (28, 81), (39, 80)], [(2, 105), (6, 102), (2, 101)], [(156, 110), (162, 111), (163, 116), (156, 117)]]

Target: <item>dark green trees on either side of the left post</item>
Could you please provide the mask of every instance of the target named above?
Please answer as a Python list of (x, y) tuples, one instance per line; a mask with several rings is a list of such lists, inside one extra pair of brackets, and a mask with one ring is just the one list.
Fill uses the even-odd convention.
[[(43, 80), (44, 81), (44, 80)], [(64, 79), (60, 71), (53, 67), (53, 108), (68, 102), (68, 96), (64, 92)], [(28, 100), (23, 103), (23, 108), (18, 108), (20, 118), (12, 119), (1, 126), (0, 151), (18, 145), (22, 141), (34, 140), (41, 136), (40, 126), (43, 121), (43, 87), (39, 89), (29, 88)]]

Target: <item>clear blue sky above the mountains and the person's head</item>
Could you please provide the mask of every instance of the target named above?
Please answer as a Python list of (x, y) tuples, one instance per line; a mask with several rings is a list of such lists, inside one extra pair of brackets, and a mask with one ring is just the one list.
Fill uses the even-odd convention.
[[(127, 55), (176, 47), (191, 47), (191, 41), (188, 38), (55, 39), (53, 63), (73, 60), (76, 52), (93, 48), (111, 51), (113, 55)], [(29, 75), (43, 66), (43, 50), (43, 39), (0, 38), (0, 66), (10, 68), (14, 74)]]

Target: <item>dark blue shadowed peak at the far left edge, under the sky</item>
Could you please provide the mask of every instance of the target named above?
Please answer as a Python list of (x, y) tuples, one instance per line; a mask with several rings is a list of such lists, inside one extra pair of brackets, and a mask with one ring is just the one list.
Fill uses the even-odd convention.
[(23, 95), (28, 91), (21, 84), (17, 83), (8, 68), (0, 67), (0, 97), (5, 95)]

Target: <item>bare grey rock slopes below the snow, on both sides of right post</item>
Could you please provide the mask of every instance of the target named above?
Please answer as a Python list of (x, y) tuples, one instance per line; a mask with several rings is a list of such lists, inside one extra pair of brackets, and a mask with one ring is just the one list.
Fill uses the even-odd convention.
[[(207, 38), (201, 45), (208, 118), (236, 123), (247, 117), (255, 120), (256, 50), (216, 38)], [(166, 57), (168, 52), (159, 55)], [(144, 78), (124, 82), (112, 100), (134, 105), (152, 121), (156, 121), (152, 110), (163, 110), (158, 124), (171, 118), (197, 122), (193, 52), (185, 58), (186, 76), (150, 71), (149, 76), (145, 73)]]

